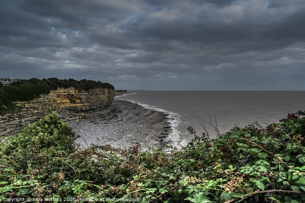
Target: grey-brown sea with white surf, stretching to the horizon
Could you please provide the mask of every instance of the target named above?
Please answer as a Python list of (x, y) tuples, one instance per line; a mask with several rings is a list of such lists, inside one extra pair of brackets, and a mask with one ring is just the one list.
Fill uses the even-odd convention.
[(115, 99), (166, 113), (169, 139), (181, 146), (194, 138), (190, 126), (198, 136), (208, 132), (216, 138), (235, 126), (265, 127), (288, 113), (305, 111), (305, 91), (129, 91)]

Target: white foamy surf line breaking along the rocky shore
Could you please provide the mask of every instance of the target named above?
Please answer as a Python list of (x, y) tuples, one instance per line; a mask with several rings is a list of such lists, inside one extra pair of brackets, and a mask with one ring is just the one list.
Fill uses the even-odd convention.
[[(134, 92), (134, 93), (136, 93), (136, 92)], [(130, 94), (134, 94), (134, 93), (130, 93)], [(127, 95), (127, 94), (124, 94), (124, 95)], [(124, 95), (122, 95), (122, 96), (124, 96)], [(139, 101), (123, 99), (123, 98), (116, 98), (116, 99), (130, 101), (131, 103), (139, 105), (145, 109), (167, 114), (166, 121), (169, 123), (171, 130), (170, 130), (170, 133), (168, 134), (168, 136), (166, 137), (166, 140), (171, 140), (173, 147), (177, 147), (178, 149), (185, 147), (189, 143), (186, 139), (181, 138), (179, 135), (180, 131), (177, 129), (179, 123), (181, 122), (181, 120), (179, 118), (179, 114), (158, 108), (156, 106), (142, 104)]]

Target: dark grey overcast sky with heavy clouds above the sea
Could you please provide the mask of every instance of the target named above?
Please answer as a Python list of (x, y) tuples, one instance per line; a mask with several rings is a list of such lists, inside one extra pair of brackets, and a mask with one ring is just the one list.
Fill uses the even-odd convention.
[(305, 90), (304, 0), (1, 1), (0, 77)]

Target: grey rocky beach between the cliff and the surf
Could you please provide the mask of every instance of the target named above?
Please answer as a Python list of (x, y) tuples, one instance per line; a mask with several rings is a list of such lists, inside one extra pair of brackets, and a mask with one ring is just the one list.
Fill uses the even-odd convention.
[(101, 112), (99, 119), (84, 119), (71, 127), (80, 134), (81, 138), (76, 142), (81, 147), (93, 143), (128, 149), (139, 143), (142, 150), (147, 150), (166, 141), (171, 129), (167, 116), (130, 101), (114, 99), (111, 107)]

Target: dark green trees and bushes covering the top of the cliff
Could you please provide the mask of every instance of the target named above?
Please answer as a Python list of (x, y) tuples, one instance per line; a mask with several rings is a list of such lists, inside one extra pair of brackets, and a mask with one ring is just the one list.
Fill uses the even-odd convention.
[(50, 90), (55, 90), (59, 87), (74, 87), (79, 91), (89, 91), (93, 88), (109, 88), (114, 87), (109, 83), (96, 82), (93, 80), (59, 80), (57, 78), (36, 79), (32, 78), (26, 81), (12, 83), (11, 85), (3, 86), (0, 84), (0, 115), (6, 112), (18, 110), (15, 105), (16, 101), (30, 101), (39, 97), (41, 94), (48, 94)]

